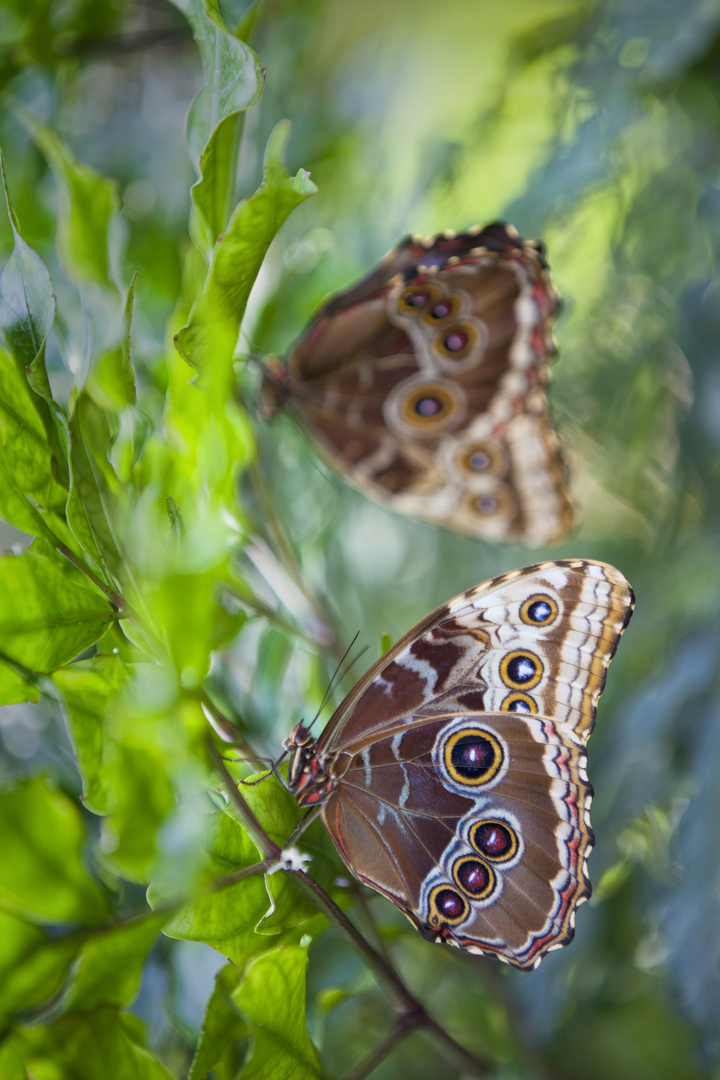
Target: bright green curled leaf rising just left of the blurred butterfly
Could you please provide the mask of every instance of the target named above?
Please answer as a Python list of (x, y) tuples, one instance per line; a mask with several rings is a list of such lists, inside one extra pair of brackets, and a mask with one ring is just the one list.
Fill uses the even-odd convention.
[(295, 177), (285, 171), (288, 135), (286, 122), (271, 133), (262, 184), (235, 208), (215, 245), (207, 280), (188, 323), (175, 337), (180, 355), (223, 399), (233, 383), (232, 355), (247, 298), (268, 247), (290, 211), (316, 190), (304, 170)]

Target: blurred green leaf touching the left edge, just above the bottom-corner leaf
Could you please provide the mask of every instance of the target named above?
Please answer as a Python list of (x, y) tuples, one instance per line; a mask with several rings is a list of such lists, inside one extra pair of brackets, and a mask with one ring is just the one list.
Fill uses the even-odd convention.
[(39, 927), (0, 910), (0, 1025), (54, 997), (79, 949), (78, 935), (53, 940)]

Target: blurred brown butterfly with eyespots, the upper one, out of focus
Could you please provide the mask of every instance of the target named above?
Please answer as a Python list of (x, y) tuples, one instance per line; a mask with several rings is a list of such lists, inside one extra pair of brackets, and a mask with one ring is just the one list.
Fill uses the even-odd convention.
[(268, 362), (262, 413), (289, 402), (330, 464), (394, 510), (555, 543), (574, 521), (544, 391), (557, 308), (543, 245), (510, 225), (407, 238)]

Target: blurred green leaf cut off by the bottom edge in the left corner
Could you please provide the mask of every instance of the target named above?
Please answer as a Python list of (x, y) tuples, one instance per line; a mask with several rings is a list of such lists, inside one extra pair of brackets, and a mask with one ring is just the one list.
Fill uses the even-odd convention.
[(16, 1027), (12, 1043), (33, 1080), (174, 1080), (138, 1042), (138, 1024), (113, 1005), (53, 1024)]

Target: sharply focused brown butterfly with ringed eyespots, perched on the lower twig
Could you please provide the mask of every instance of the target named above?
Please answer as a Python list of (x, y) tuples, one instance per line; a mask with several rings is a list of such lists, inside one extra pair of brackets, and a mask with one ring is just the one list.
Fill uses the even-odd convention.
[(288, 786), (350, 872), (431, 941), (529, 970), (590, 894), (585, 744), (634, 596), (614, 567), (540, 563), (462, 593), (367, 672)]

